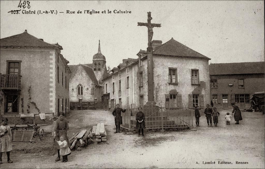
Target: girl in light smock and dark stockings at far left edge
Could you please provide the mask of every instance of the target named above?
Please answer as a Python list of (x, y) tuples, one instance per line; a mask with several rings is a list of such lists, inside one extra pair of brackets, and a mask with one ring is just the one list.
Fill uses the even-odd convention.
[(6, 152), (7, 162), (13, 163), (10, 160), (10, 151), (12, 151), (12, 132), (10, 127), (7, 125), (8, 119), (2, 119), (2, 125), (0, 126), (0, 164), (2, 164), (2, 153)]

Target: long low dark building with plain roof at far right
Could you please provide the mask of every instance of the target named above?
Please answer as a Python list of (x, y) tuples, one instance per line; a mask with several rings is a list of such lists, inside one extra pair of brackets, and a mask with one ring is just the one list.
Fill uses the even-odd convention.
[(211, 99), (219, 109), (250, 108), (255, 92), (264, 91), (264, 62), (215, 63), (209, 65)]

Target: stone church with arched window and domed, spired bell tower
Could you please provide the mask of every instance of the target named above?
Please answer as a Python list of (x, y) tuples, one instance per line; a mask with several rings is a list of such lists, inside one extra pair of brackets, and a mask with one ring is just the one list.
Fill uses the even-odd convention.
[(107, 76), (106, 58), (101, 53), (100, 42), (98, 53), (93, 56), (92, 64), (69, 65), (71, 70), (69, 95), (70, 102), (101, 101), (102, 79)]

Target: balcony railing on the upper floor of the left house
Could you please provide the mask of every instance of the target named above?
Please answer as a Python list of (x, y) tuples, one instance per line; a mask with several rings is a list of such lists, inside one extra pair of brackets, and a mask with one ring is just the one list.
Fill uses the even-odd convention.
[(21, 90), (21, 77), (19, 75), (2, 75), (1, 89), (17, 89)]

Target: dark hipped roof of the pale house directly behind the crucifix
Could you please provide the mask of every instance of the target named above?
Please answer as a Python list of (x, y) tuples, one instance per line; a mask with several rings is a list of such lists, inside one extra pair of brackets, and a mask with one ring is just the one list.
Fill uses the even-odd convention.
[(153, 54), (157, 55), (170, 55), (170, 56), (184, 56), (184, 57), (196, 57), (196, 58), (210, 58), (192, 50), (191, 48), (179, 43), (178, 41), (171, 38), (166, 43), (158, 46)]

